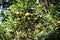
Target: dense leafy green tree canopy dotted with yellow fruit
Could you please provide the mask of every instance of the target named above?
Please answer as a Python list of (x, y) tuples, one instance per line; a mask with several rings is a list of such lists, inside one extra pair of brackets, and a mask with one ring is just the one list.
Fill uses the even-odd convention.
[(60, 12), (54, 4), (50, 3), (47, 9), (43, 2), (36, 4), (36, 0), (13, 0), (12, 3), (3, 12), (1, 40), (45, 40), (60, 25)]

